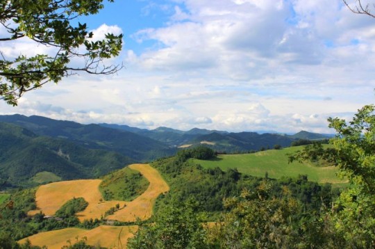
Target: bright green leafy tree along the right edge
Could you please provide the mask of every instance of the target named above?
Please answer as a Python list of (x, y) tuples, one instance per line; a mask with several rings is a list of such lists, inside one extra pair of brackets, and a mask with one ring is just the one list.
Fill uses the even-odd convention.
[(332, 221), (351, 248), (375, 244), (375, 106), (367, 105), (349, 123), (329, 118), (329, 127), (338, 135), (332, 140), (335, 163), (351, 181), (335, 203)]

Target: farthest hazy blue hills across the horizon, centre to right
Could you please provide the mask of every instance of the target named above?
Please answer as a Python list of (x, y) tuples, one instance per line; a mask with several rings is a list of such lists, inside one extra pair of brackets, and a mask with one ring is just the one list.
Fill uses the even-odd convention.
[(261, 150), (262, 148), (272, 148), (274, 145), (289, 147), (292, 142), (304, 140), (317, 140), (330, 138), (326, 134), (316, 134), (308, 131), (299, 131), (294, 135), (265, 133), (258, 134), (256, 132), (228, 132), (216, 131), (208, 129), (190, 129), (189, 131), (181, 131), (167, 127), (158, 127), (157, 129), (139, 129), (129, 127), (128, 125), (119, 124), (99, 124), (103, 127), (131, 131), (136, 134), (147, 136), (154, 140), (158, 140), (169, 146), (176, 147), (194, 147), (202, 143), (208, 147), (220, 152), (247, 152), (249, 150)]

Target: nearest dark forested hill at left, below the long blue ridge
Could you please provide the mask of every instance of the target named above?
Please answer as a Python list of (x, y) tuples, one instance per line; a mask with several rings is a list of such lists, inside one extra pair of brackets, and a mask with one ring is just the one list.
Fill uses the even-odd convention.
[(38, 173), (55, 179), (95, 178), (133, 162), (116, 152), (88, 149), (0, 122), (0, 179), (8, 187), (44, 182), (33, 178)]

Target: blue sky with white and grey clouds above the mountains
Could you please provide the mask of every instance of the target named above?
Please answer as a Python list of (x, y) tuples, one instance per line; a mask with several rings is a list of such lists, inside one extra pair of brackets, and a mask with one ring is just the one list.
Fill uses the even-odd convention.
[[(374, 103), (375, 19), (341, 0), (117, 0), (80, 17), (94, 38), (123, 33), (112, 75), (80, 73), (0, 115), (155, 129), (332, 133)], [(0, 30), (1, 34), (1, 30)], [(47, 52), (29, 40), (8, 54)]]

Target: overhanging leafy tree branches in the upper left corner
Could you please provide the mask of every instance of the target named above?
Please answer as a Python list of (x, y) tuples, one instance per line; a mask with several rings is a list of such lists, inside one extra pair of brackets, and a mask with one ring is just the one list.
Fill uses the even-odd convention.
[[(77, 72), (113, 74), (121, 69), (122, 65), (105, 65), (103, 60), (119, 55), (122, 34), (108, 33), (104, 40), (95, 40), (88, 26), (77, 22), (101, 8), (103, 0), (1, 1), (1, 47), (27, 40), (49, 52), (14, 56), (18, 53), (0, 47), (0, 99), (17, 105), (25, 92), (49, 81), (57, 83)], [(72, 65), (73, 58), (81, 58), (80, 65)]]

